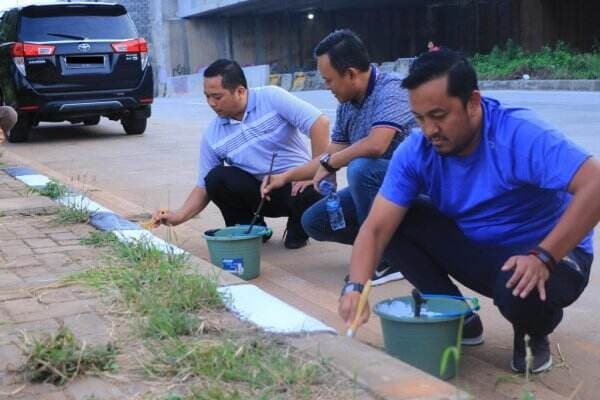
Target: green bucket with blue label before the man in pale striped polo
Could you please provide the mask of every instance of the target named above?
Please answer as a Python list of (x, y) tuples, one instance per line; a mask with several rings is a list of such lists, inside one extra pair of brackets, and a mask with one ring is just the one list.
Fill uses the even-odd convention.
[(212, 229), (202, 235), (206, 239), (210, 262), (223, 270), (250, 280), (260, 275), (260, 248), (263, 236), (271, 233), (267, 227), (254, 225), (228, 226)]

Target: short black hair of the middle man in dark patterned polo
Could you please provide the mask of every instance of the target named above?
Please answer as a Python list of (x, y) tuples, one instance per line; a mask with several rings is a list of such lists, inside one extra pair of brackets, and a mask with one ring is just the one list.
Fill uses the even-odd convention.
[(349, 68), (365, 72), (371, 63), (367, 46), (350, 29), (340, 29), (325, 36), (315, 47), (315, 58), (327, 54), (331, 66), (343, 75)]

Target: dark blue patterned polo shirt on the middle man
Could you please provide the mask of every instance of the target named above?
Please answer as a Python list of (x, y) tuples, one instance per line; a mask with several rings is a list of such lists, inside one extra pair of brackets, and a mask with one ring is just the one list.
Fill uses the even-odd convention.
[(396, 135), (382, 158), (390, 159), (398, 144), (416, 125), (410, 111), (408, 91), (402, 88), (402, 77), (392, 72), (382, 72), (371, 66), (367, 93), (361, 103), (341, 103), (336, 112), (331, 134), (333, 143), (351, 145), (367, 137), (371, 129), (387, 127), (396, 129)]

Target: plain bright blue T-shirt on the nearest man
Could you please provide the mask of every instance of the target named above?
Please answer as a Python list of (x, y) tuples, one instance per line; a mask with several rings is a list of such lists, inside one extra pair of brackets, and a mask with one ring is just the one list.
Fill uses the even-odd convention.
[[(531, 110), (482, 99), (481, 142), (442, 156), (419, 132), (394, 153), (380, 194), (408, 207), (426, 194), (475, 242), (527, 250), (556, 226), (569, 183), (590, 154)], [(579, 243), (592, 254), (592, 232)]]

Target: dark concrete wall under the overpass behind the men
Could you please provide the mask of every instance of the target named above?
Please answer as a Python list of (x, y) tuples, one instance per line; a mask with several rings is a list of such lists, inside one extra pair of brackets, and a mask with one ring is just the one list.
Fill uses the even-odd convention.
[(189, 18), (185, 22), (189, 58), (177, 55), (173, 66), (180, 63), (194, 72), (216, 58), (232, 57), (242, 65), (269, 64), (275, 72), (312, 70), (314, 46), (339, 28), (356, 31), (369, 46), (375, 62), (415, 56), (425, 51), (429, 39), (468, 54), (487, 53), (508, 39), (529, 50), (562, 39), (589, 51), (594, 37), (600, 42), (600, 1), (596, 0), (459, 0), (427, 4), (317, 10), (313, 20), (297, 12)]

